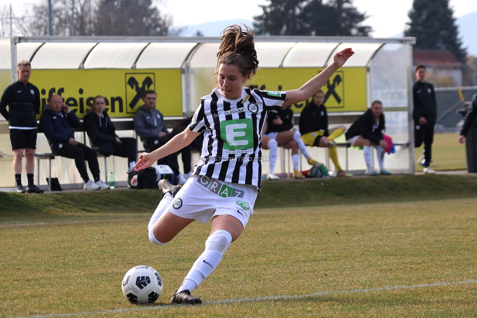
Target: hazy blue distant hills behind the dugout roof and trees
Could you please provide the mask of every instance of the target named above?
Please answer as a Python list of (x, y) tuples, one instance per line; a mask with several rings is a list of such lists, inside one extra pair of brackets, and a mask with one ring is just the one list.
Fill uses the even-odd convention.
[[(196, 25), (188, 25), (182, 32), (182, 36), (195, 36), (197, 31), (200, 31), (203, 36), (220, 36), (220, 32), (227, 26), (234, 23), (245, 23), (253, 26), (250, 20), (222, 20), (216, 22), (201, 23)], [(477, 11), (471, 12), (456, 19), (459, 27), (459, 35), (462, 38), (464, 47), (467, 47), (467, 53), (477, 57)], [(402, 33), (392, 36), (402, 37)]]

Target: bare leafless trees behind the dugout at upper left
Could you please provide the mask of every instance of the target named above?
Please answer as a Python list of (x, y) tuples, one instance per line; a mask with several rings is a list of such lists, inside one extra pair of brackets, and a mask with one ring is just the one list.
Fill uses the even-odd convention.
[[(179, 35), (173, 19), (151, 0), (52, 0), (53, 35)], [(3, 36), (9, 35), (9, 7), (0, 14)], [(48, 35), (48, 0), (32, 5), (15, 17), (15, 30), (23, 35)], [(6, 32), (7, 31), (7, 32)]]

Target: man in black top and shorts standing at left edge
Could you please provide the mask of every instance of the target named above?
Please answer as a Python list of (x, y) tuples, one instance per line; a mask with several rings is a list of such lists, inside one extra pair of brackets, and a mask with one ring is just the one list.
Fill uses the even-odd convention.
[(17, 74), (18, 81), (8, 86), (0, 99), (0, 114), (8, 120), (10, 129), (16, 191), (25, 192), (22, 185), (22, 158), (25, 155), (25, 171), (28, 178), (26, 192), (43, 193), (43, 190), (33, 184), (38, 129), (36, 115), (40, 113), (40, 91), (28, 82), (31, 74), (29, 61), (23, 60), (18, 63)]

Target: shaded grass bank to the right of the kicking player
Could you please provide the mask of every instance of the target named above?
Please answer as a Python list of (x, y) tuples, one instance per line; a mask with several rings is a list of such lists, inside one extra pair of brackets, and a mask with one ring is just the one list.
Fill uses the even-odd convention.
[(477, 176), (406, 175), (263, 182), (255, 208), (475, 198)]

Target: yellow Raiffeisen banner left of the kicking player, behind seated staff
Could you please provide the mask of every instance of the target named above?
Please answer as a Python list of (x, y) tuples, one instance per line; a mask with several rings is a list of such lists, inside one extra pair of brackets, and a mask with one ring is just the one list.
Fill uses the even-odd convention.
[(156, 108), (164, 116), (182, 116), (180, 69), (35, 69), (30, 82), (40, 90), (42, 109), (59, 94), (80, 118), (96, 95), (105, 96), (111, 118), (133, 117), (146, 90), (157, 92)]

